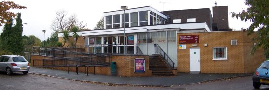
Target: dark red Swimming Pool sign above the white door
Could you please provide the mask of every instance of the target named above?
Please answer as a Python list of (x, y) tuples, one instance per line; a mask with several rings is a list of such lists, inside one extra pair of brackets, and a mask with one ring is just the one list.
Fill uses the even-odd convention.
[(199, 35), (179, 35), (179, 44), (200, 43)]

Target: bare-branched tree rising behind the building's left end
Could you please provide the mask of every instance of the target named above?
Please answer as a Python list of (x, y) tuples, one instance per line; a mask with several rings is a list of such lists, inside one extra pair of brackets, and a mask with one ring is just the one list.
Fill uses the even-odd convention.
[(59, 10), (56, 12), (55, 19), (52, 21), (51, 28), (56, 32), (63, 32), (67, 30), (67, 32), (71, 31), (73, 26), (78, 26), (79, 29), (83, 29), (87, 26), (83, 21), (78, 23), (78, 19), (76, 15), (71, 15), (67, 18), (67, 12), (64, 10)]

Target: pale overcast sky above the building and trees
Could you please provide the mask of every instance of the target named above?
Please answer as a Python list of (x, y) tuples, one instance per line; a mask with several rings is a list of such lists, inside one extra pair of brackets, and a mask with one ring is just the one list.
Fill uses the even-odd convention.
[[(241, 12), (246, 9), (245, 0), (5, 0), (14, 1), (16, 4), (26, 6), (27, 9), (12, 9), (10, 11), (21, 13), (23, 25), (23, 35), (34, 35), (43, 40), (42, 30), (45, 32), (45, 40), (54, 32), (51, 29), (55, 12), (59, 10), (67, 11), (67, 16), (75, 14), (79, 21), (87, 24), (86, 28), (93, 29), (103, 16), (103, 12), (121, 10), (121, 6), (136, 8), (151, 6), (158, 11), (183, 10), (210, 8), (215, 6), (228, 6), (229, 27), (240, 30), (247, 28), (251, 22), (241, 22), (233, 19), (230, 12)], [(160, 2), (166, 2), (164, 5)], [(3, 26), (0, 27), (2, 33)]]

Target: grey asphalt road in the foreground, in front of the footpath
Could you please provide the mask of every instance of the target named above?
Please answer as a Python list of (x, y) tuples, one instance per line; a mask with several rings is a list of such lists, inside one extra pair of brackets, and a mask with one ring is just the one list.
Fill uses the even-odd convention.
[(269, 86), (265, 85), (261, 89), (254, 89), (251, 78), (248, 76), (174, 87), (141, 87), (108, 86), (22, 73), (8, 76), (0, 72), (0, 90), (269, 90)]

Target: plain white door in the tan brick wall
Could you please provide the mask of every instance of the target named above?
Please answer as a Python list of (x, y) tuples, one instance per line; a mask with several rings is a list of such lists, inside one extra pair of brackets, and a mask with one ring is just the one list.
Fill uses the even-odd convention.
[(190, 48), (190, 72), (200, 73), (200, 48)]

